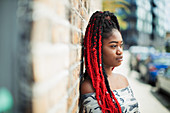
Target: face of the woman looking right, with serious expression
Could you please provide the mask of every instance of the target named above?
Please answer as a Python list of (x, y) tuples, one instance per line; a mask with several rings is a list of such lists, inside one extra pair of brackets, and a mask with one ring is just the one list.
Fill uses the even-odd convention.
[(105, 67), (116, 67), (123, 61), (123, 40), (120, 32), (113, 29), (112, 35), (103, 39), (103, 63)]

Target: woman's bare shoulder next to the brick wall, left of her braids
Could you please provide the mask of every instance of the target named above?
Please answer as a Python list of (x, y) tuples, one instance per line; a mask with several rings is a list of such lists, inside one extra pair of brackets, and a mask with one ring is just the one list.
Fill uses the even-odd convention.
[(81, 89), (81, 95), (95, 92), (92, 82), (89, 79), (85, 79), (82, 82), (82, 84), (80, 84), (80, 89)]

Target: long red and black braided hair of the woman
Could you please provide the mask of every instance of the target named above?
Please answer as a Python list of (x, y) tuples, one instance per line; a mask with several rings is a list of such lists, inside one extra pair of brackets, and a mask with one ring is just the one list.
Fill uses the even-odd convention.
[(96, 11), (90, 18), (86, 28), (83, 42), (84, 47), (82, 49), (85, 58), (86, 73), (91, 78), (96, 92), (97, 102), (103, 113), (121, 113), (120, 105), (110, 89), (103, 65), (103, 39), (111, 35), (112, 29), (118, 29), (120, 31), (116, 16), (107, 11)]

